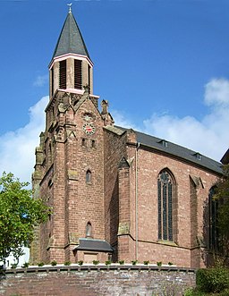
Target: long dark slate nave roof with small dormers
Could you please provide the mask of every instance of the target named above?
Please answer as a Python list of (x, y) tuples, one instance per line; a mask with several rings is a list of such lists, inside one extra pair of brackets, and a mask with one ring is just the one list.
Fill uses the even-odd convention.
[[(113, 131), (119, 135), (121, 135), (121, 131), (128, 131), (128, 129), (125, 129), (120, 126), (114, 126), (110, 128), (108, 127), (108, 130)], [(119, 132), (117, 132), (117, 130), (119, 130)], [(146, 148), (148, 147), (155, 149), (157, 151), (161, 151), (162, 153), (165, 153), (170, 156), (175, 156), (176, 158), (183, 159), (198, 166), (202, 166), (216, 173), (222, 173), (222, 164), (207, 156), (201, 155), (197, 151), (184, 148), (180, 145), (174, 144), (164, 139), (159, 139), (157, 137), (150, 136), (140, 131), (134, 132), (136, 133), (137, 142), (140, 143), (140, 146), (145, 146)]]

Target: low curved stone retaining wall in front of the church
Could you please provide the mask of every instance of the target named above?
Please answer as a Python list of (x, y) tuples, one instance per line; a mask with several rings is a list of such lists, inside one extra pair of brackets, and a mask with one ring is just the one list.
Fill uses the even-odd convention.
[(195, 280), (195, 270), (174, 266), (31, 266), (7, 269), (0, 295), (178, 296)]

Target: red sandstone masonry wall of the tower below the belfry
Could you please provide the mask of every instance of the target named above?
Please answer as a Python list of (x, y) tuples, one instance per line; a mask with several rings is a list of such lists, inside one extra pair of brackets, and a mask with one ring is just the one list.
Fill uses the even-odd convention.
[[(79, 238), (86, 237), (88, 222), (92, 227), (92, 237), (105, 239), (104, 122), (89, 99), (85, 99), (76, 111), (72, 106), (63, 111), (62, 108), (72, 99), (63, 95), (57, 94), (47, 110), (44, 150), (47, 173), (41, 182), (40, 197), (48, 200), (53, 207), (53, 215), (47, 224), (41, 225), (39, 261), (44, 262), (74, 262), (77, 258), (73, 257), (72, 249)], [(60, 103), (61, 112), (58, 111)], [(93, 114), (96, 129), (93, 135), (83, 131), (85, 113)], [(84, 145), (82, 139), (85, 140)], [(88, 170), (91, 172), (89, 183), (86, 182)]]

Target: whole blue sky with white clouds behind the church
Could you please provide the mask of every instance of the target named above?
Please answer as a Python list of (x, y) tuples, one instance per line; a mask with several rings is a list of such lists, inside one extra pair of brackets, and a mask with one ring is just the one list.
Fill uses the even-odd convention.
[[(0, 167), (22, 179), (44, 129), (67, 3), (0, 0)], [(219, 161), (229, 147), (228, 11), (228, 0), (72, 1), (94, 93), (115, 123)]]

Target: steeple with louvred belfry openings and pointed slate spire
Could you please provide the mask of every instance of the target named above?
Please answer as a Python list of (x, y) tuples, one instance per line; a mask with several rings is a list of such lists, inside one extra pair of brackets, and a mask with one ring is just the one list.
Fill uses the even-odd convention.
[(49, 85), (50, 99), (58, 89), (82, 95), (88, 87), (93, 94), (93, 63), (71, 7), (49, 65)]

